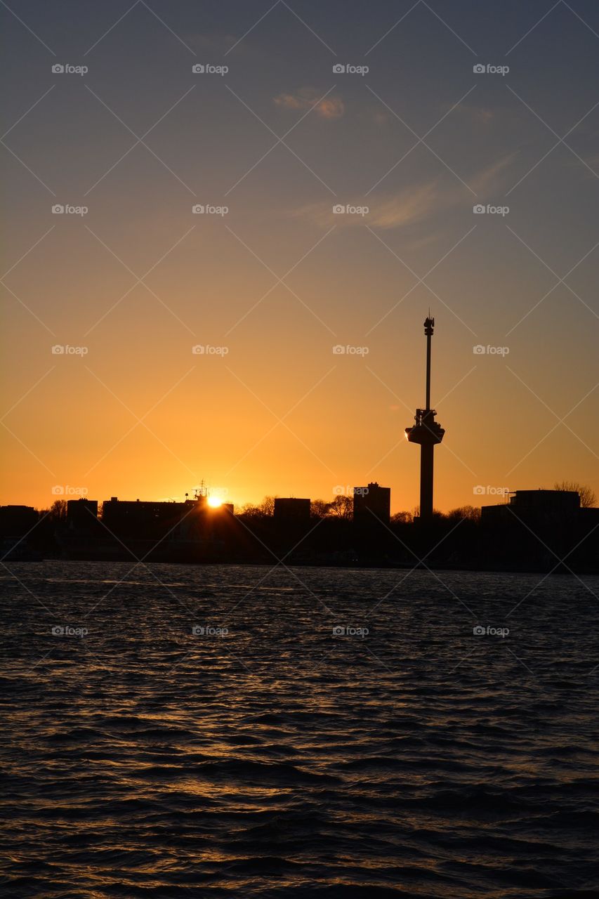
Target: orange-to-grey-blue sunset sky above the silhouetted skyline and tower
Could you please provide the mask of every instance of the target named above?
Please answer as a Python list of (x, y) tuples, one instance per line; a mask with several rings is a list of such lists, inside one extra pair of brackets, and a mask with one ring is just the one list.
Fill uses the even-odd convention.
[(0, 503), (599, 494), (594, 0), (0, 15)]

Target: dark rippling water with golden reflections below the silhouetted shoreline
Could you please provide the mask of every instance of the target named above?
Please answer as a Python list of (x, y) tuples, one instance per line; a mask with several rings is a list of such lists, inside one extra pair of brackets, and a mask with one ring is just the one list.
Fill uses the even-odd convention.
[(9, 568), (4, 895), (597, 895), (599, 578)]

